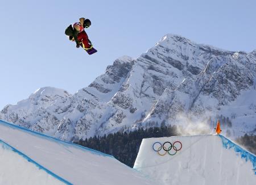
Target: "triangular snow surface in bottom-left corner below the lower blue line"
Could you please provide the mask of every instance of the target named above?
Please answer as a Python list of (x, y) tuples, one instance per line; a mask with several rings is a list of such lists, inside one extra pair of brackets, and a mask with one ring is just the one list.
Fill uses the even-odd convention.
[(70, 184), (0, 140), (0, 184)]

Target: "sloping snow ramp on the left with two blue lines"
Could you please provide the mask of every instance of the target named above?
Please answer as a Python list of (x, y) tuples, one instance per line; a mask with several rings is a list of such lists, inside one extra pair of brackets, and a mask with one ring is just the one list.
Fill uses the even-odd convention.
[(154, 184), (96, 150), (0, 120), (0, 184)]

